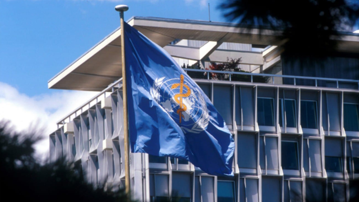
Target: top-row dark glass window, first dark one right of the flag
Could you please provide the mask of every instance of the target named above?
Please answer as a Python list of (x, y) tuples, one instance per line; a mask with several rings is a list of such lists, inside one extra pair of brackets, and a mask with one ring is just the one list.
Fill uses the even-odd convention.
[(257, 99), (257, 120), (258, 125), (274, 126), (274, 99)]

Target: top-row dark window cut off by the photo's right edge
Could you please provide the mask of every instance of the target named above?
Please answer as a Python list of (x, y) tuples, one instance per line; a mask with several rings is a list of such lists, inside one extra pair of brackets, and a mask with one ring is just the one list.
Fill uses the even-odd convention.
[(344, 129), (359, 131), (359, 105), (344, 103)]

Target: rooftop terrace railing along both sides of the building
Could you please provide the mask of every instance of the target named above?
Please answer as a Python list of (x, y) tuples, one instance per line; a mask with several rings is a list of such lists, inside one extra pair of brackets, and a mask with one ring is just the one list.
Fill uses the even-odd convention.
[[(231, 82), (250, 82), (250, 83), (266, 83), (274, 85), (292, 85), (292, 86), (312, 86), (312, 87), (327, 87), (327, 88), (342, 88), (342, 89), (359, 89), (359, 80), (351, 79), (334, 79), (334, 78), (321, 78), (321, 77), (303, 77), (291, 75), (276, 75), (276, 74), (257, 74), (247, 72), (229, 72), (218, 70), (204, 70), (204, 69), (183, 69), (193, 79), (205, 79), (215, 81), (214, 74), (225, 74), (220, 77), (224, 81)], [(218, 81), (218, 80), (217, 80)], [(106, 93), (112, 93), (117, 88), (122, 87), (122, 78), (118, 79), (107, 88), (103, 89), (99, 94), (91, 98), (85, 104), (81, 105), (64, 118), (57, 122), (64, 124), (70, 122), (76, 116), (80, 115), (84, 110), (97, 104), (102, 98), (106, 97)]]

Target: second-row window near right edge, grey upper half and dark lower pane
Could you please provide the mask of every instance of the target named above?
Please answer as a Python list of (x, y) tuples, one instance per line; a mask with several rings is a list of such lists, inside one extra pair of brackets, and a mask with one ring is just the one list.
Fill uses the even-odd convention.
[(342, 147), (340, 139), (325, 140), (325, 169), (327, 172), (341, 173)]

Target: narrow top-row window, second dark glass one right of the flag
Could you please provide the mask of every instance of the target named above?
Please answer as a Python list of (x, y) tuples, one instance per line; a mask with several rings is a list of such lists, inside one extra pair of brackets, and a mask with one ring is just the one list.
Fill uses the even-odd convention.
[[(296, 128), (297, 127), (297, 114), (295, 112), (295, 100), (280, 99), (279, 107), (279, 125), (284, 126), (284, 117), (286, 118), (286, 127)], [(283, 105), (284, 104), (284, 105)], [(285, 114), (284, 114), (285, 112)]]

